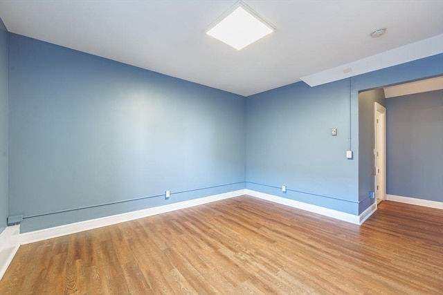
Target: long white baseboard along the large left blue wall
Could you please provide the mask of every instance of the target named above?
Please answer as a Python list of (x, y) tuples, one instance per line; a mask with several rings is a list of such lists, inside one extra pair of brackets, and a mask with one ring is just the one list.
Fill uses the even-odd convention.
[(97, 229), (99, 227), (107, 227), (108, 225), (115, 225), (116, 223), (134, 220), (138, 218), (144, 218), (147, 216), (153, 216), (156, 214), (166, 213), (170, 211), (185, 209), (194, 207), (199, 204), (206, 204), (209, 202), (215, 202), (218, 200), (224, 200), (227, 198), (233, 198), (244, 195), (244, 189), (238, 191), (230, 191), (228, 193), (220, 193), (218, 195), (208, 196), (204, 198), (198, 198), (194, 200), (188, 200), (183, 202), (177, 202), (174, 204), (167, 204), (159, 207), (152, 207), (148, 209), (132, 211), (128, 213), (122, 213), (113, 216), (106, 216), (102, 218), (96, 218), (91, 220), (85, 220), (80, 222), (71, 223), (69, 225), (60, 225), (59, 227), (51, 227), (48, 229), (41, 229), (39, 231), (30, 231), (25, 234), (19, 235), (20, 245), (29, 244), (30, 242), (39, 242), (49, 238), (57, 238), (60, 236), (66, 236), (69, 234), (75, 234), (80, 231), (87, 231), (89, 229)]

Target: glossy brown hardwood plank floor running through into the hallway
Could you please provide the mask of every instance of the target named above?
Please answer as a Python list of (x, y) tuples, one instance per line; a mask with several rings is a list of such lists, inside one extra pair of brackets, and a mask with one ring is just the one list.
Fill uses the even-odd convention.
[(20, 247), (0, 294), (442, 294), (443, 211), (361, 227), (242, 196)]

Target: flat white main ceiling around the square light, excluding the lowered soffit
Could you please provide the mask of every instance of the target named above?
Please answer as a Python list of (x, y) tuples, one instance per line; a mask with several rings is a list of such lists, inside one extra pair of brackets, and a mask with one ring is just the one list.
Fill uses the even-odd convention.
[(19, 35), (244, 96), (443, 34), (441, 0), (245, 0), (276, 30), (237, 51), (205, 34), (236, 2), (0, 0), (0, 17)]

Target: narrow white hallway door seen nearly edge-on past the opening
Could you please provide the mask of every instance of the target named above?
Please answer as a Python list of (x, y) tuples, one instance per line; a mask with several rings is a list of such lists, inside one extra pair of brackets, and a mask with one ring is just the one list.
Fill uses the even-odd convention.
[(386, 200), (386, 108), (375, 104), (375, 198), (377, 203)]

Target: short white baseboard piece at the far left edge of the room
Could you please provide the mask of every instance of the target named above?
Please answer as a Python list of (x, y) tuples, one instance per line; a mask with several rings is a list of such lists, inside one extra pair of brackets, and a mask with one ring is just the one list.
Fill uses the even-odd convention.
[(20, 247), (20, 225), (6, 227), (0, 234), (0, 280)]

